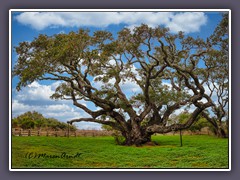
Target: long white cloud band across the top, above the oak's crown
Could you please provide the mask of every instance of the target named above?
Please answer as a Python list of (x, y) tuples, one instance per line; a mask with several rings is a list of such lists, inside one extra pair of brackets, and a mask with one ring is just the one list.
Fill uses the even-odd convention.
[(16, 16), (19, 23), (34, 29), (48, 27), (107, 27), (126, 24), (130, 28), (141, 23), (155, 27), (164, 25), (171, 32), (197, 32), (206, 24), (203, 12), (24, 12)]

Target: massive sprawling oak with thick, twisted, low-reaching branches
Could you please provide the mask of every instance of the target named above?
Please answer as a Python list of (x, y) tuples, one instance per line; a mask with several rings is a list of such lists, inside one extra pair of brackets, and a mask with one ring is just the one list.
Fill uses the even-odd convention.
[[(213, 49), (208, 43), (144, 24), (132, 31), (124, 28), (116, 38), (108, 31), (91, 35), (84, 29), (39, 35), (16, 47), (19, 57), (13, 74), (19, 77), (17, 90), (33, 81), (61, 81), (52, 98), (72, 100), (91, 116), (69, 123), (109, 125), (121, 132), (126, 145), (141, 145), (154, 133), (189, 128), (212, 106), (204, 88), (204, 68), (199, 68)], [(126, 81), (138, 85), (139, 92), (124, 93)], [(80, 100), (94, 103), (99, 110), (89, 109)], [(167, 125), (174, 111), (191, 105), (195, 108), (185, 123)]]

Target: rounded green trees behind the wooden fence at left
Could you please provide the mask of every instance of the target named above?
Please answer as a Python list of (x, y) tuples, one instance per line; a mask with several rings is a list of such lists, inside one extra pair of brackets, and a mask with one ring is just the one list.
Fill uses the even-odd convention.
[[(46, 118), (36, 111), (28, 111), (12, 119), (12, 128), (67, 130), (68, 124), (54, 118)], [(71, 131), (76, 129), (76, 126), (70, 125)]]

